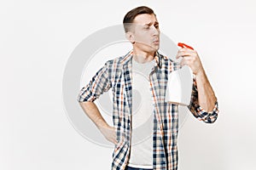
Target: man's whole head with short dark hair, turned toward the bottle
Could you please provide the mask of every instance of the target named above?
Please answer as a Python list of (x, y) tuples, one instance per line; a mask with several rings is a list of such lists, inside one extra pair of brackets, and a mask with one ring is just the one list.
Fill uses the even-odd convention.
[(142, 6), (131, 9), (123, 20), (127, 39), (145, 52), (159, 49), (160, 30), (156, 15), (151, 8)]

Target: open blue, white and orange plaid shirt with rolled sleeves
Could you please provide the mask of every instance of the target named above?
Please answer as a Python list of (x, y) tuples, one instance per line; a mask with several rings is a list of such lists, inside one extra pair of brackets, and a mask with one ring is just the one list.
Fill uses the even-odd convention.
[[(131, 99), (132, 99), (132, 54), (108, 60), (96, 72), (89, 84), (81, 89), (79, 102), (94, 101), (112, 88), (113, 126), (116, 128), (118, 144), (113, 150), (112, 170), (124, 170), (129, 159), (131, 144)], [(165, 101), (168, 74), (181, 66), (156, 53), (154, 71), (149, 75), (150, 90), (154, 98), (153, 168), (155, 170), (177, 169), (178, 105)], [(149, 104), (148, 104), (149, 105)], [(198, 105), (198, 93), (194, 79), (189, 111), (199, 120), (215, 122), (218, 102), (213, 111), (206, 112)]]

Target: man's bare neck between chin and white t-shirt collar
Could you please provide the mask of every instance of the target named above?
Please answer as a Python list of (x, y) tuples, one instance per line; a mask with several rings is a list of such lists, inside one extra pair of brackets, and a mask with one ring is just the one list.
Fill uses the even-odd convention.
[(138, 63), (147, 63), (154, 59), (155, 52), (148, 53), (142, 50), (137, 50), (133, 48), (133, 59), (135, 59)]

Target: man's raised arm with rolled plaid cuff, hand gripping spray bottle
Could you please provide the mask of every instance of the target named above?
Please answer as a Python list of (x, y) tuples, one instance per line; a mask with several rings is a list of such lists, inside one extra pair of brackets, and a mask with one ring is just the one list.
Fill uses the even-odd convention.
[(189, 110), (203, 122), (215, 122), (218, 116), (218, 101), (197, 52), (181, 48), (177, 53), (177, 58), (179, 57), (183, 57), (181, 65), (189, 65), (195, 75)]

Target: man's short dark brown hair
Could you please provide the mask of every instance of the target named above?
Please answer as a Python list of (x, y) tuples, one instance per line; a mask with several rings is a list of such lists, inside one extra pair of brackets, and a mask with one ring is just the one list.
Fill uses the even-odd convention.
[(133, 20), (135, 19), (135, 17), (137, 17), (138, 14), (154, 14), (154, 10), (146, 6), (141, 6), (141, 7), (131, 9), (131, 11), (125, 14), (125, 17), (123, 20), (125, 32), (129, 31), (129, 24), (133, 22)]

